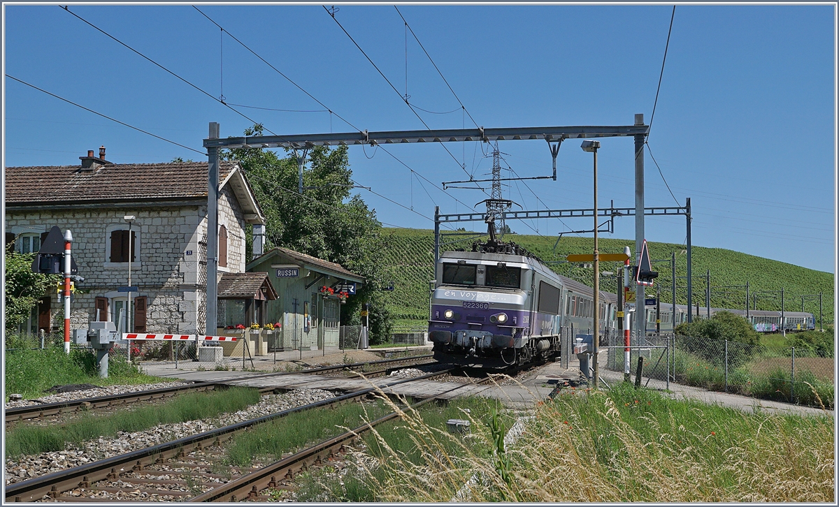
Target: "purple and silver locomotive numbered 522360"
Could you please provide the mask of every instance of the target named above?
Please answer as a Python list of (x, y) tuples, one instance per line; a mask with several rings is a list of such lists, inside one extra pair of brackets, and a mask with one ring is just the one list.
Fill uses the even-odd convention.
[(492, 238), (443, 253), (436, 267), (436, 360), (494, 369), (560, 351), (563, 281), (528, 251)]

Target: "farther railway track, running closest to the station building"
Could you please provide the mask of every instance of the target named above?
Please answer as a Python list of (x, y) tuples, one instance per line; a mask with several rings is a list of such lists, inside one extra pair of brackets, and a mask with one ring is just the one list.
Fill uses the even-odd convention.
[[(137, 403), (141, 401), (154, 401), (159, 400), (162, 398), (166, 398), (169, 396), (175, 396), (179, 394), (183, 394), (185, 392), (200, 392), (200, 391), (210, 391), (216, 389), (216, 387), (220, 386), (227, 386), (226, 382), (232, 382), (234, 380), (247, 380), (247, 379), (257, 379), (263, 377), (271, 377), (271, 376), (281, 376), (281, 375), (297, 375), (297, 374), (318, 374), (318, 373), (326, 373), (330, 371), (341, 371), (341, 370), (362, 370), (368, 366), (379, 366), (379, 365), (392, 365), (389, 368), (384, 368), (382, 370), (375, 370), (371, 372), (367, 372), (364, 375), (366, 376), (378, 376), (378, 375), (388, 375), (391, 371), (397, 370), (399, 368), (406, 368), (411, 366), (419, 366), (414, 361), (417, 360), (428, 360), (433, 357), (431, 354), (424, 354), (424, 355), (415, 355), (405, 358), (398, 358), (393, 360), (377, 360), (377, 361), (367, 361), (363, 363), (352, 363), (348, 365), (331, 365), (331, 366), (320, 366), (317, 368), (310, 368), (307, 370), (300, 370), (294, 372), (274, 372), (268, 373), (264, 375), (249, 375), (249, 376), (240, 376), (233, 379), (227, 379), (223, 382), (196, 382), (195, 384), (190, 385), (179, 385), (176, 387), (164, 387), (161, 389), (154, 389), (149, 391), (134, 391), (128, 393), (122, 393), (118, 395), (111, 395), (111, 396), (96, 396), (93, 398), (81, 398), (78, 400), (70, 400), (70, 401), (58, 401), (55, 403), (44, 403), (40, 405), (34, 406), (18, 406), (15, 408), (6, 409), (6, 424), (14, 423), (14, 422), (21, 422), (28, 419), (36, 419), (36, 418), (44, 418), (48, 416), (60, 416), (62, 414), (74, 413), (78, 411), (86, 411), (91, 409), (97, 408), (107, 408), (113, 406), (124, 406), (129, 405), (131, 403)], [(407, 365), (399, 365), (400, 363), (408, 363)], [(431, 365), (434, 364), (433, 362), (426, 362), (420, 365)], [(272, 391), (270, 389), (261, 390), (263, 392)]]

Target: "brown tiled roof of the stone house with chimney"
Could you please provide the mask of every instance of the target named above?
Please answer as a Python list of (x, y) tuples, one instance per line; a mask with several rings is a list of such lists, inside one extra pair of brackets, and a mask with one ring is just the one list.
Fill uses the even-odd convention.
[[(219, 163), (219, 181), (234, 162)], [(185, 199), (207, 195), (207, 163), (120, 163), (6, 168), (6, 205)]]

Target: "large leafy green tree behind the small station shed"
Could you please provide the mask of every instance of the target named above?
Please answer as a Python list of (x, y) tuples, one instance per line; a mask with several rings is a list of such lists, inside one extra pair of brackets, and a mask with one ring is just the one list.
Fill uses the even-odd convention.
[[(245, 136), (260, 136), (262, 125), (245, 130)], [(386, 248), (382, 225), (375, 210), (358, 195), (352, 194), (352, 170), (347, 147), (313, 147), (308, 154), (308, 168), (303, 184), (309, 187), (300, 195), (298, 165), (294, 154), (283, 158), (261, 148), (222, 150), (220, 158), (237, 160), (248, 175), (267, 224), (266, 246), (283, 246), (310, 256), (336, 262), (365, 278), (355, 297), (341, 305), (341, 323), (361, 323), (362, 302), (370, 303), (371, 342), (388, 339), (393, 324), (384, 306), (382, 256)], [(253, 232), (248, 231), (248, 239)], [(250, 257), (252, 241), (246, 243)]]

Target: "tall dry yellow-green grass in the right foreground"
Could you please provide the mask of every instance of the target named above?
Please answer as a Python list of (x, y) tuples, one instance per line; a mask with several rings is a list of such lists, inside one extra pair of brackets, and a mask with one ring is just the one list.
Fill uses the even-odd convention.
[[(365, 472), (342, 480), (354, 491), (367, 484), (374, 501), (834, 501), (829, 416), (749, 414), (623, 385), (557, 396), (534, 416), (505, 449), (504, 473), (484, 451), (495, 447), (486, 417), (465, 444), (407, 414), (403, 431), (424, 459), (371, 448)], [(442, 442), (456, 440), (461, 453), (446, 453)]]

